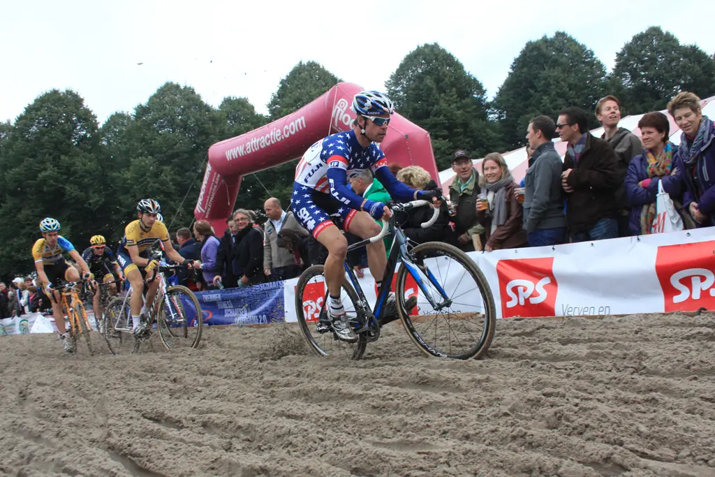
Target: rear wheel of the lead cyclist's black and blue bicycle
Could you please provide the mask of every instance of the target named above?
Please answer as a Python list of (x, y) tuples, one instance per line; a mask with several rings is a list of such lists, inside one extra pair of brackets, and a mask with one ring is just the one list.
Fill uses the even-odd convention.
[[(321, 315), (325, 317), (325, 297), (327, 297), (327, 284), (323, 265), (313, 265), (302, 272), (297, 285), (295, 285), (295, 313), (300, 325), (300, 333), (307, 340), (310, 349), (321, 356), (346, 355), (353, 360), (359, 360), (365, 353), (368, 340), (365, 333), (358, 335), (358, 341), (347, 343), (338, 340), (332, 330), (319, 330), (317, 325)], [(342, 284), (342, 305), (348, 318), (358, 318), (358, 294), (352, 290), (347, 282)]]

